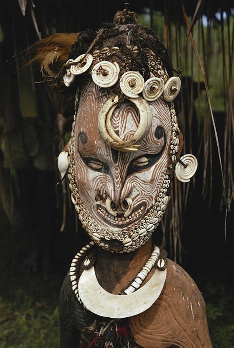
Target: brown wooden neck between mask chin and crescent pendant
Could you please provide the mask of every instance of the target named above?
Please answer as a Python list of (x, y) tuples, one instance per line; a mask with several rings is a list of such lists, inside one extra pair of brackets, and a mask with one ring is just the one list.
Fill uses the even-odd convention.
[(98, 248), (95, 273), (99, 284), (109, 293), (118, 294), (140, 272), (151, 252), (151, 238), (141, 248), (128, 253)]

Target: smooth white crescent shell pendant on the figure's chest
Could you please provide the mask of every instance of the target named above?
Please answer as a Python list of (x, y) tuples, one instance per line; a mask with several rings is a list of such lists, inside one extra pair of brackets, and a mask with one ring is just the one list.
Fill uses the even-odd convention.
[(78, 281), (78, 294), (90, 312), (109, 318), (127, 318), (150, 308), (161, 294), (166, 280), (166, 269), (156, 270), (151, 279), (140, 289), (129, 295), (114, 295), (98, 283), (95, 269), (82, 272)]

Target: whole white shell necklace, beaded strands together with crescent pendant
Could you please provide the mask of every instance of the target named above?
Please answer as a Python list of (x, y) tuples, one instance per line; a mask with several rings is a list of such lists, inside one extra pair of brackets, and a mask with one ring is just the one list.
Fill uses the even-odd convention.
[[(98, 283), (93, 266), (84, 269), (79, 280), (77, 279), (77, 262), (93, 245), (94, 242), (90, 242), (83, 247), (76, 254), (70, 267), (72, 289), (78, 301), (86, 309), (99, 316), (116, 319), (140, 314), (151, 307), (161, 294), (166, 280), (165, 261), (163, 258), (158, 260), (160, 249), (154, 247), (151, 257), (143, 266), (142, 270), (138, 273), (131, 285), (123, 291), (124, 296), (110, 294), (104, 290)], [(151, 279), (140, 288), (151, 269), (156, 265), (156, 262), (158, 269), (156, 269)], [(85, 267), (88, 267), (90, 260), (86, 258), (83, 264)]]

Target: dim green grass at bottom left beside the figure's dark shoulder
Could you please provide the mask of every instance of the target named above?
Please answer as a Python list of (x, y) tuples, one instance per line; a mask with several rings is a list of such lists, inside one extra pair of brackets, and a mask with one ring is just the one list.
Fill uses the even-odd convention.
[[(5, 318), (0, 322), (0, 348), (59, 347), (58, 294), (50, 292), (51, 285), (43, 283), (39, 276), (27, 278), (31, 277), (42, 292), (47, 292), (47, 296), (38, 298), (38, 291), (35, 296), (27, 294), (29, 283), (25, 277), (24, 288), (0, 298), (0, 320)], [(15, 315), (13, 318), (8, 317), (12, 314)]]

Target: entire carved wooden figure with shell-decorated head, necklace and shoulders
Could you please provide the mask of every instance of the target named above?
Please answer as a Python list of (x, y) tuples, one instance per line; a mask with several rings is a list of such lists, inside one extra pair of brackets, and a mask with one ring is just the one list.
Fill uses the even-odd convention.
[(76, 94), (58, 166), (62, 179), (68, 170), (91, 242), (75, 255), (61, 290), (61, 348), (209, 348), (199, 290), (151, 239), (173, 172), (188, 182), (197, 167), (193, 155), (180, 158), (174, 99), (181, 82), (168, 53), (124, 10), (114, 24), (80, 33), (68, 58), (50, 80)]

